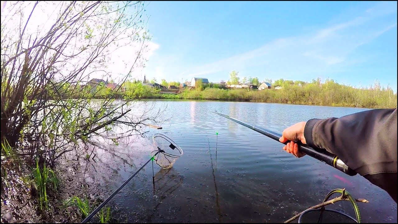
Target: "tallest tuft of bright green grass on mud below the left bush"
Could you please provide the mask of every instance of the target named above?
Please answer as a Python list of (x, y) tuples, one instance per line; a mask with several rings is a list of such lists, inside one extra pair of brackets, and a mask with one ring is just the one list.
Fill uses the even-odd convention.
[(54, 189), (58, 189), (59, 182), (54, 171), (46, 167), (44, 163), (43, 168), (39, 167), (39, 160), (36, 159), (36, 167), (33, 169), (33, 183), (37, 191), (37, 198), (40, 204), (40, 210), (48, 209), (47, 187), (53, 185)]

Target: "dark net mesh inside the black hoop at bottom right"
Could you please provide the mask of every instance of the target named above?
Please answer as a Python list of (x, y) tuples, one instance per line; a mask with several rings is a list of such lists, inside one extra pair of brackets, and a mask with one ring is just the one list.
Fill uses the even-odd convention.
[(298, 223), (357, 223), (357, 220), (336, 210), (313, 209), (302, 213)]

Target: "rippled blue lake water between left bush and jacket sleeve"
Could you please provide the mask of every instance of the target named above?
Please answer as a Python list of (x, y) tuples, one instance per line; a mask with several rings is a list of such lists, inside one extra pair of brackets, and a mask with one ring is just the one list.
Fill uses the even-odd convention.
[[(253, 102), (152, 103), (154, 108), (166, 108), (162, 117), (168, 120), (158, 124), (162, 130), (144, 128), (149, 132), (121, 140), (118, 146), (97, 143), (96, 163), (88, 165), (86, 183), (101, 185), (93, 194), (105, 199), (150, 158), (153, 134), (164, 134), (183, 149), (172, 169), (155, 165), (154, 186), (149, 163), (109, 202), (120, 222), (283, 222), (322, 202), (336, 188), (369, 200), (358, 202), (363, 222), (397, 222), (396, 203), (363, 177), (349, 177), (309, 156), (296, 158), (282, 150), (283, 144), (211, 113), (281, 133), (300, 121), (367, 109)], [(330, 208), (355, 217), (349, 202)]]

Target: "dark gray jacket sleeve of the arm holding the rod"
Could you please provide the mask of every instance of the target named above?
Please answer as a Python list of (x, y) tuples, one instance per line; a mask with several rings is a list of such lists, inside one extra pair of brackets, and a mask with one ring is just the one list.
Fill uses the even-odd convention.
[(341, 118), (312, 119), (306, 143), (337, 155), (397, 201), (397, 109), (375, 109)]

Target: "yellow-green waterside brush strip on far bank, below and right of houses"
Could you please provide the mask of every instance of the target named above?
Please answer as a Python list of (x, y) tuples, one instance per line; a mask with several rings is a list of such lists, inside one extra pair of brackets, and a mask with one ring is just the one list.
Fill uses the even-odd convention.
[(381, 87), (378, 81), (368, 88), (353, 88), (327, 79), (312, 82), (279, 79), (273, 83), (281, 89), (247, 90), (225, 89), (218, 84), (205, 88), (182, 90), (179, 94), (148, 93), (143, 98), (198, 99), (253, 101), (291, 104), (310, 104), (322, 106), (349, 106), (362, 108), (396, 108), (397, 94), (389, 88)]

